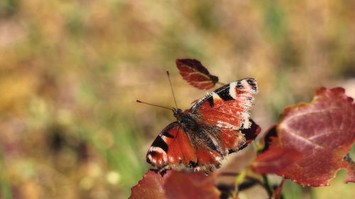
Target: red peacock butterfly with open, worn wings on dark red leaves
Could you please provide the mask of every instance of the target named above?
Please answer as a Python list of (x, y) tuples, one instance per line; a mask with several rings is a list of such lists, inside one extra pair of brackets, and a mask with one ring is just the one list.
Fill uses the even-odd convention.
[(231, 82), (209, 93), (190, 109), (173, 108), (177, 119), (148, 150), (146, 161), (158, 171), (190, 168), (208, 174), (222, 159), (246, 147), (260, 128), (250, 119), (256, 80)]

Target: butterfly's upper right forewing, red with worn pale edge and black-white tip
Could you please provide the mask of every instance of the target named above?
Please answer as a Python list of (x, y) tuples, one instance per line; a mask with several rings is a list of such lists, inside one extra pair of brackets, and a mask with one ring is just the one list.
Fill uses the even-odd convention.
[(204, 125), (239, 130), (249, 128), (253, 95), (258, 93), (255, 79), (241, 79), (222, 86), (197, 101), (189, 112)]

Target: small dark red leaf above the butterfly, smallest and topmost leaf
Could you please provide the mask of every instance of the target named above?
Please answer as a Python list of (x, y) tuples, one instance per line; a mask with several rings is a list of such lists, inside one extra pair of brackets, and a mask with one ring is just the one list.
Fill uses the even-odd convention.
[(218, 76), (209, 74), (196, 59), (176, 59), (175, 62), (182, 78), (197, 89), (211, 89), (218, 82)]

